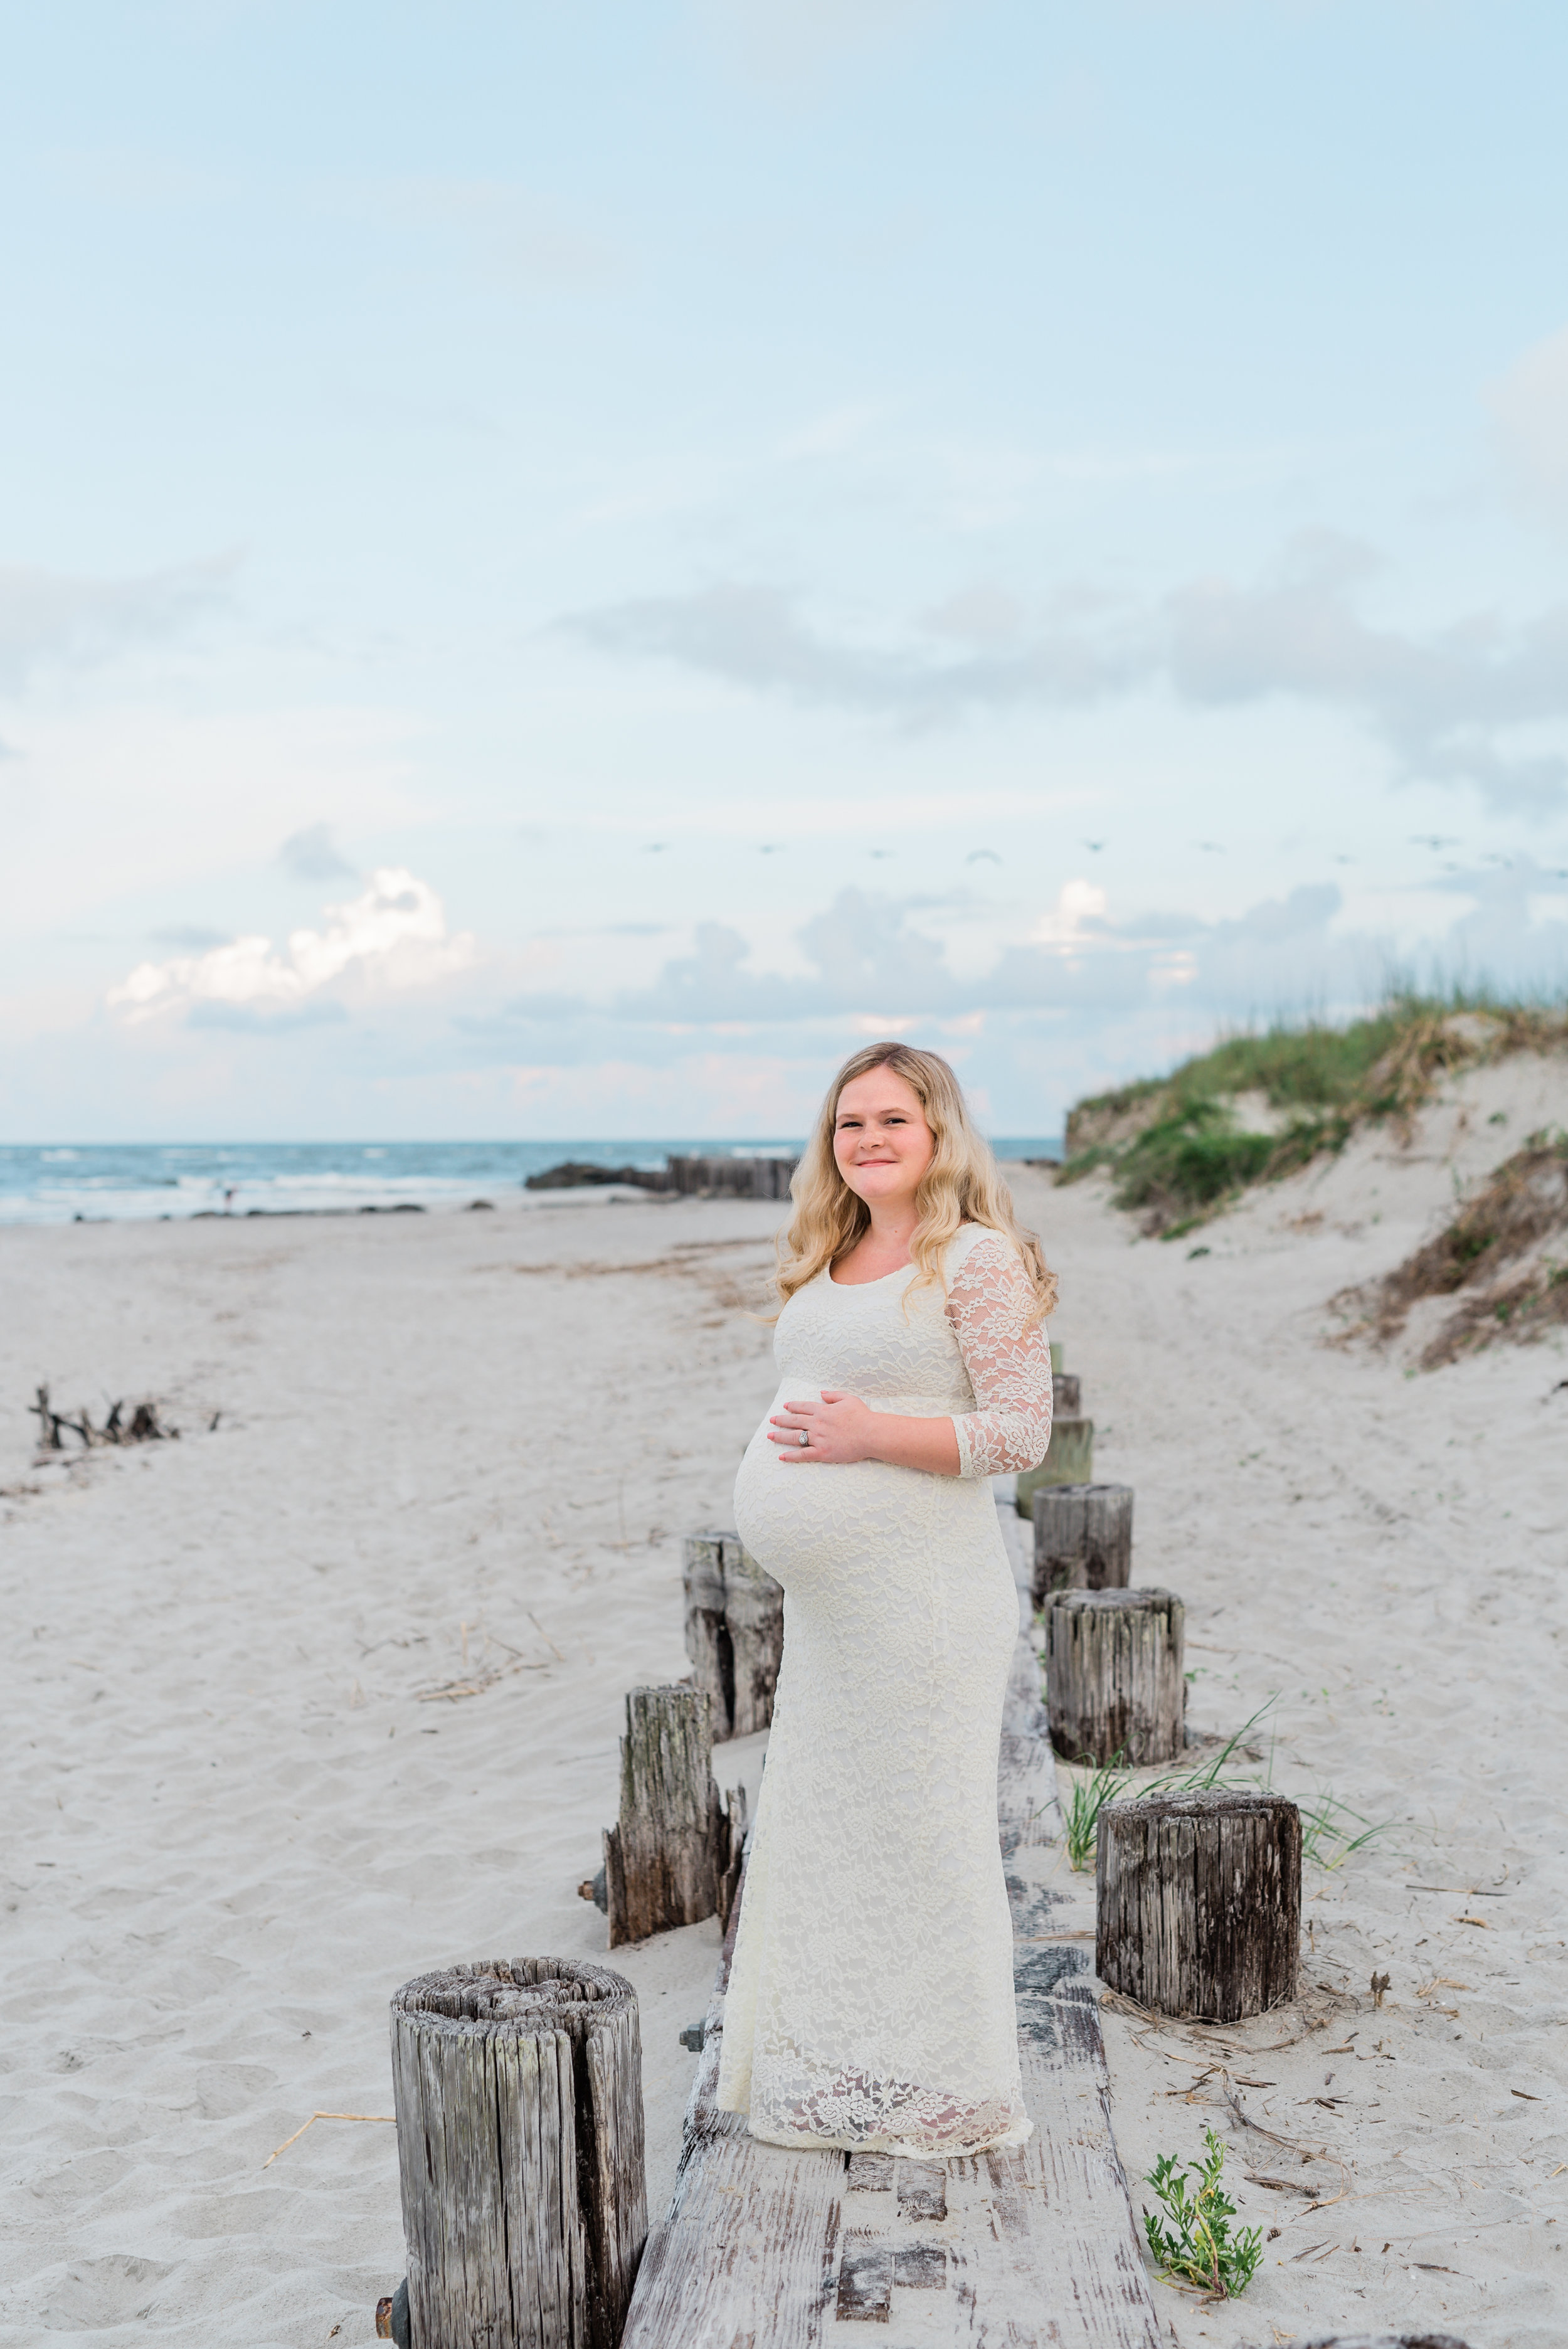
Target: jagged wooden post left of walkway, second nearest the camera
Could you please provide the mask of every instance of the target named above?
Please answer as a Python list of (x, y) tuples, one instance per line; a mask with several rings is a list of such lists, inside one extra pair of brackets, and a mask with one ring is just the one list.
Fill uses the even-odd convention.
[(610, 1947), (704, 1917), (728, 1921), (746, 1790), (714, 1783), (707, 1689), (631, 1689), (620, 1741), (620, 1825), (603, 1832)]

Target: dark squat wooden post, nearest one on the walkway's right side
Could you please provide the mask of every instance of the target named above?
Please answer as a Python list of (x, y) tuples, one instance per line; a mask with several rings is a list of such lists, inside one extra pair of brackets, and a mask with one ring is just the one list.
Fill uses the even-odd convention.
[(1300, 1811), (1284, 1795), (1143, 1795), (1099, 1818), (1099, 1978), (1162, 2015), (1239, 2022), (1296, 1997)]

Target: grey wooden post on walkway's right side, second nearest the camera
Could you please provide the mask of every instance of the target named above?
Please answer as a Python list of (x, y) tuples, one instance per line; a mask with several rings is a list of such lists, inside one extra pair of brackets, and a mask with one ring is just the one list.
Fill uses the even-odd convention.
[(1068, 1762), (1174, 1762), (1185, 1607), (1174, 1590), (1059, 1590), (1045, 1611), (1045, 1701)]

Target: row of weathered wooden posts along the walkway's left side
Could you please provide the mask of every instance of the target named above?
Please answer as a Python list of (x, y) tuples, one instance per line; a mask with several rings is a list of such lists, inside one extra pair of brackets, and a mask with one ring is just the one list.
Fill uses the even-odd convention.
[[(784, 1593), (735, 1534), (685, 1541), (690, 1677), (627, 1694), (620, 1816), (580, 1891), (610, 1947), (728, 1924), (746, 1792), (714, 1743), (772, 1722)], [(580, 1959), (486, 1959), (392, 1999), (404, 2349), (615, 2349), (648, 2236), (636, 1992)], [(671, 2342), (671, 2349), (676, 2344)]]

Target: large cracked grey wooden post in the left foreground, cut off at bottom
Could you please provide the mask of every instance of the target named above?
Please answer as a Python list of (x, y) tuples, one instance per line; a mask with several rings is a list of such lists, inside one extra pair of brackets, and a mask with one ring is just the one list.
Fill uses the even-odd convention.
[(392, 1999), (418, 2349), (615, 2349), (648, 2236), (636, 1992), (566, 1957)]

